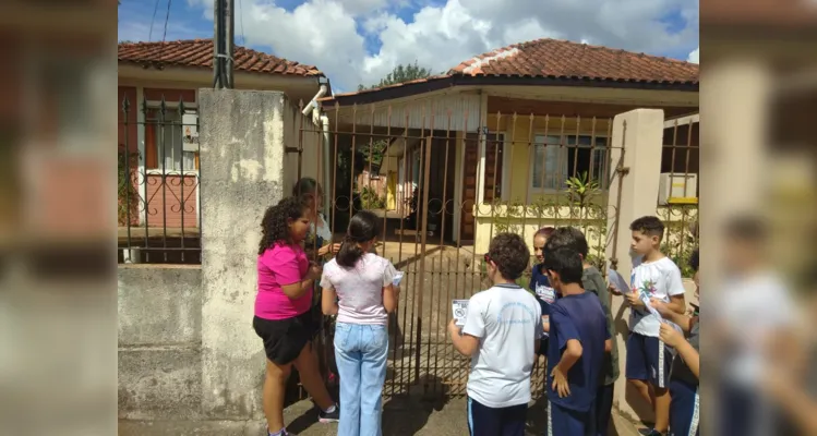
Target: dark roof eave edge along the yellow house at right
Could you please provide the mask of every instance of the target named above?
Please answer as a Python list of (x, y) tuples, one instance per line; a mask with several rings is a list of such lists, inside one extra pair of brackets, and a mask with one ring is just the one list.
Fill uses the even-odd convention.
[(625, 89), (647, 90), (681, 90), (697, 93), (698, 81), (688, 82), (658, 82), (658, 81), (625, 81), (602, 80), (588, 77), (555, 77), (555, 76), (518, 76), (518, 75), (466, 75), (453, 74), (446, 77), (435, 77), (425, 82), (413, 82), (398, 86), (388, 86), (381, 89), (372, 89), (349, 95), (338, 95), (321, 99), (321, 104), (331, 108), (336, 104), (339, 106), (364, 105), (394, 98), (409, 97), (412, 95), (440, 90), (454, 86), (581, 86), (581, 87), (605, 87)]

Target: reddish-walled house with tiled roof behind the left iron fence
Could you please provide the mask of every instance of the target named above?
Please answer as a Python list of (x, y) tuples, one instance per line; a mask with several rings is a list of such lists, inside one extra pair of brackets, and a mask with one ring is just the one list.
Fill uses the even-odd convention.
[[(197, 237), (196, 102), (197, 89), (213, 86), (213, 53), (212, 39), (119, 44), (118, 146), (132, 154), (123, 162), (120, 153), (120, 178), (123, 166), (133, 177), (131, 192), (124, 192), (128, 184), (120, 181), (119, 220), (125, 226), (130, 215), (127, 227), (134, 235), (153, 237), (148, 229), (133, 228), (144, 227), (164, 238), (180, 232)], [(233, 59), (235, 88), (284, 92), (292, 112), (285, 114), (289, 120), (300, 116), (301, 102), (331, 92), (328, 80), (315, 66), (244, 47), (235, 48)], [(296, 122), (287, 124), (297, 128)], [(131, 201), (130, 214), (122, 206), (125, 196)]]

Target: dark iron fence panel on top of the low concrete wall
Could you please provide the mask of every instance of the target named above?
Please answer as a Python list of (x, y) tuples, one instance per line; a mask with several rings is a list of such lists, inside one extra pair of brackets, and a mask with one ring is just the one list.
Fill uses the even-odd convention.
[(200, 264), (199, 118), (194, 102), (132, 101), (119, 117), (119, 263)]

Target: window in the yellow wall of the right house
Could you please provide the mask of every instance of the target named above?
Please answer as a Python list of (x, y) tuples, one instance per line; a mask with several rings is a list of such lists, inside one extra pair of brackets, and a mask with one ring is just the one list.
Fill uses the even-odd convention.
[[(562, 141), (563, 140), (563, 141)], [(533, 190), (561, 190), (570, 177), (587, 172), (589, 179), (606, 189), (604, 168), (608, 158), (608, 138), (579, 135), (536, 135), (531, 156), (531, 180)]]

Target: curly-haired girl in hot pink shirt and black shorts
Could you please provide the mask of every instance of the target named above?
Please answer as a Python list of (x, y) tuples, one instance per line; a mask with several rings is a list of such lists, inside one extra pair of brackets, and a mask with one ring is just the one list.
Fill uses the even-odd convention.
[(320, 421), (339, 417), (311, 347), (317, 330), (310, 314), (312, 291), (322, 271), (310, 265), (302, 246), (312, 214), (309, 198), (290, 197), (269, 207), (261, 222), (253, 328), (264, 341), (267, 358), (263, 404), (271, 436), (291, 435), (284, 427), (284, 392), (292, 365), (321, 409)]

